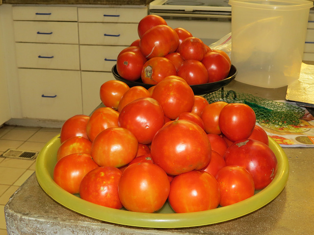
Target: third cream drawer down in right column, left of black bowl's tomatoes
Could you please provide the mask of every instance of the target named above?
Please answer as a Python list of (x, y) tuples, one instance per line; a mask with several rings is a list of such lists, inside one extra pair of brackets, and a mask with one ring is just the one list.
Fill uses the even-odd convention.
[(117, 63), (120, 46), (80, 46), (80, 63), (82, 71), (108, 71)]

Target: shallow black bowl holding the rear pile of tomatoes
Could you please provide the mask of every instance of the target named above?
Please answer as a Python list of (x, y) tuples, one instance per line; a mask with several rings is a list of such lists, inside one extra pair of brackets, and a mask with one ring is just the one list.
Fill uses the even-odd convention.
[[(143, 83), (141, 79), (138, 79), (136, 81), (129, 81), (127, 79), (122, 78), (118, 74), (117, 65), (114, 65), (111, 71), (116, 80), (125, 82), (126, 84), (128, 84), (129, 87), (142, 86), (142, 87), (145, 87), (146, 89), (149, 89), (150, 87), (154, 86), (152, 84)], [(205, 83), (205, 84), (200, 84), (200, 85), (190, 85), (190, 87), (192, 88), (195, 95), (208, 94), (211, 92), (215, 92), (219, 90), (220, 88), (228, 85), (231, 81), (235, 79), (236, 74), (237, 74), (237, 70), (235, 66), (231, 65), (231, 69), (227, 78), (218, 82), (210, 82), (210, 83)]]

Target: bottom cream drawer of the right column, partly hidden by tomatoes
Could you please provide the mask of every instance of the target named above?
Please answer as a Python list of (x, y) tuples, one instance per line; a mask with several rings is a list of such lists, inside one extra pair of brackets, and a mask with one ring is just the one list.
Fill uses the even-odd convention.
[(102, 102), (99, 96), (100, 87), (109, 80), (114, 80), (111, 72), (81, 72), (83, 114), (90, 115)]

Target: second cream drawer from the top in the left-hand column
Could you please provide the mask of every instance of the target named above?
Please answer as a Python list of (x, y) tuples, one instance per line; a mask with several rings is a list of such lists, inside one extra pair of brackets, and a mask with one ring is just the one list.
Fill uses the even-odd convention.
[(78, 23), (14, 21), (15, 42), (78, 44)]

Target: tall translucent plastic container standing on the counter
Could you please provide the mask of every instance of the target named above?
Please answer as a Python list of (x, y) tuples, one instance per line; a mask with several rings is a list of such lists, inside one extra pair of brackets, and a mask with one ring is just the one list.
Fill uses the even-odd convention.
[(297, 80), (310, 8), (308, 0), (229, 0), (235, 80), (279, 88)]

